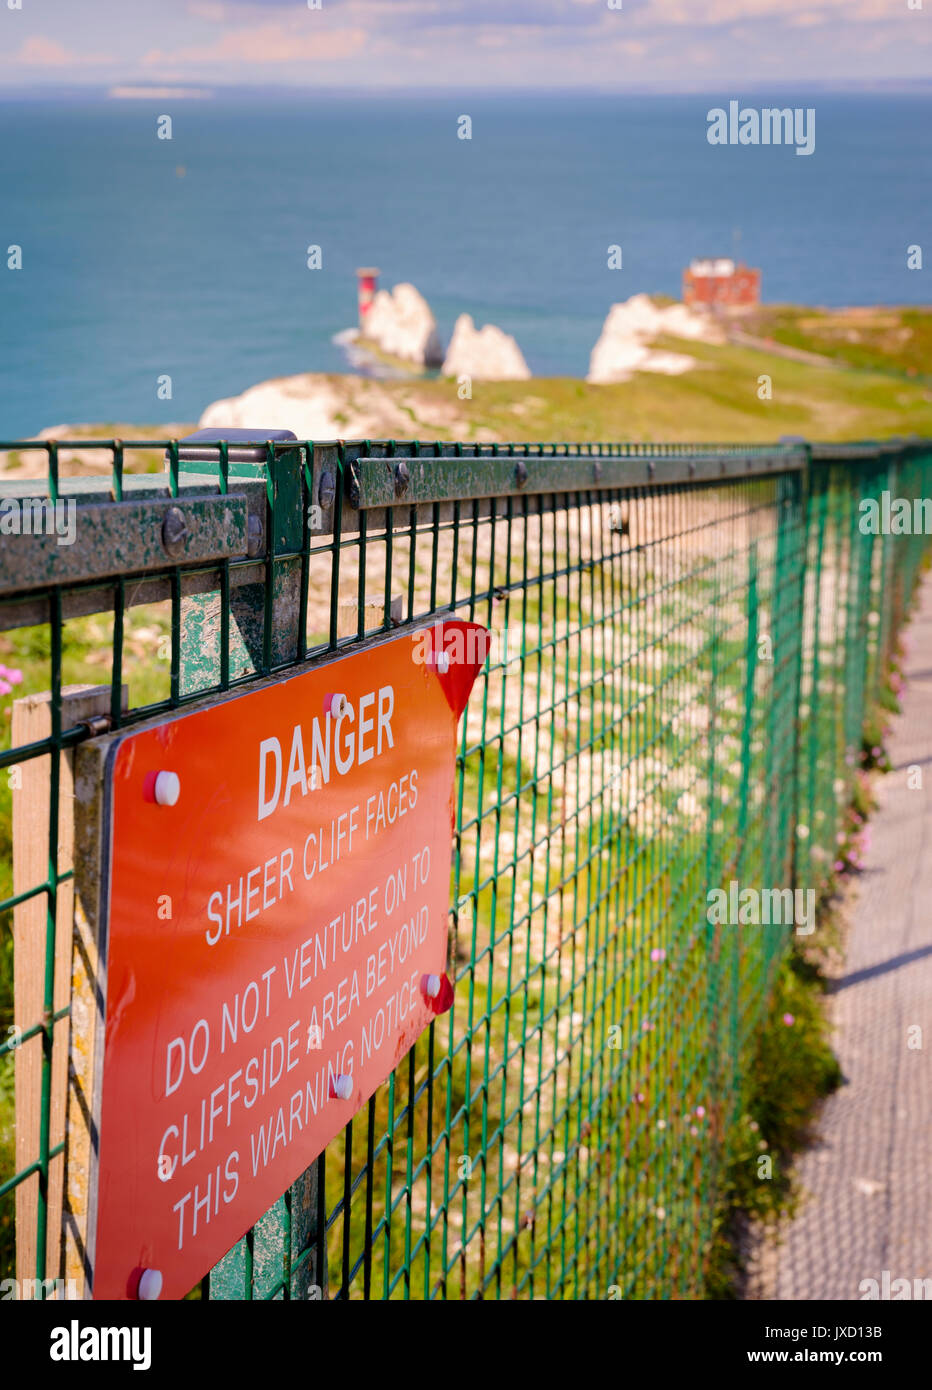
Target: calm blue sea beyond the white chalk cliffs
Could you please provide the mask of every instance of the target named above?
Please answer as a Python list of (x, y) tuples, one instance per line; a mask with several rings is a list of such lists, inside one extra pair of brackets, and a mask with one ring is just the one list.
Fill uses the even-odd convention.
[[(731, 97), (814, 107), (815, 152), (711, 146)], [(443, 336), (499, 324), (536, 375), (585, 375), (608, 307), (679, 296), (694, 256), (738, 250), (768, 302), (928, 302), (931, 117), (921, 93), (4, 97), (0, 438), (347, 371), (357, 265), (413, 281)]]

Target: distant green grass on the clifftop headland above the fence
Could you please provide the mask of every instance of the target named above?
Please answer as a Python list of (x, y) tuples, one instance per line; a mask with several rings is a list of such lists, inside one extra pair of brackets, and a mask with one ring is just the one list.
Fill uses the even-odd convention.
[[(774, 306), (738, 321), (739, 328), (788, 346), (835, 356), (838, 366), (811, 366), (733, 343), (669, 338), (658, 339), (657, 346), (692, 356), (696, 368), (679, 377), (638, 373), (613, 385), (571, 377), (474, 381), (471, 400), (460, 399), (453, 378), (410, 374), (372, 381), (331, 374), (321, 379), (344, 399), (335, 417), (340, 432), (351, 434), (353, 420), (363, 410), (369, 438), (396, 435), (399, 417), (410, 421), (410, 432), (424, 441), (750, 443), (783, 434), (817, 441), (932, 435), (932, 391), (928, 382), (908, 377), (928, 371), (932, 361), (932, 311), (871, 313), (872, 318), (847, 321), (819, 310)], [(885, 327), (889, 324), (894, 327)], [(850, 341), (851, 334), (858, 334), (857, 342)], [(769, 400), (758, 396), (758, 378), (764, 375), (772, 384)], [(165, 428), (111, 423), (81, 425), (71, 432), (75, 438), (158, 438)], [(174, 427), (176, 434), (189, 428)], [(24, 473), (40, 471), (38, 464), (39, 456), (21, 456)], [(139, 450), (126, 456), (126, 467), (156, 471), (163, 467), (161, 455)]]

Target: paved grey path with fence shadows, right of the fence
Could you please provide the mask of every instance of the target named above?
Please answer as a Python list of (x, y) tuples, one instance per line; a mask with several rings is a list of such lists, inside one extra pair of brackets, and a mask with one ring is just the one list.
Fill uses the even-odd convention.
[(750, 1298), (860, 1300), (872, 1293), (863, 1280), (881, 1297), (932, 1298), (932, 577), (906, 641), (893, 770), (878, 783), (832, 988), (844, 1084), (799, 1161), (797, 1216), (757, 1251)]

